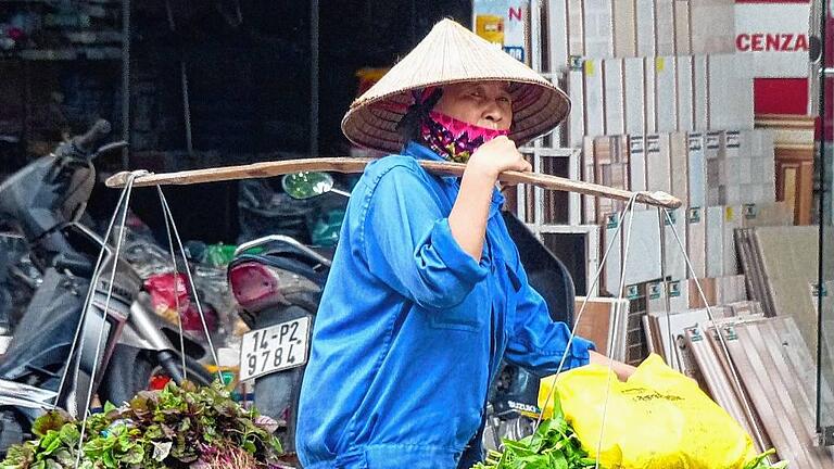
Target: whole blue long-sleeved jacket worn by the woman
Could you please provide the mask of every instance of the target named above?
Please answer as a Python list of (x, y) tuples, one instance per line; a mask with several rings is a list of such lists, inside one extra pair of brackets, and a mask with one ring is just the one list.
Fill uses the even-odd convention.
[[(527, 281), (496, 190), (480, 263), (447, 216), (459, 185), (408, 143), (351, 195), (316, 317), (296, 448), (306, 469), (454, 468), (478, 431), (502, 357), (553, 373), (570, 330)], [(593, 345), (572, 342), (566, 367)]]

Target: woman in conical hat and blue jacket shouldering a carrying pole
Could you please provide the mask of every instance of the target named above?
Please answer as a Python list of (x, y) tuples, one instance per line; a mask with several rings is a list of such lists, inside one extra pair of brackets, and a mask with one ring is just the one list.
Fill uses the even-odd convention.
[[(370, 164), (351, 197), (302, 385), (305, 468), (468, 468), (502, 358), (540, 376), (566, 348), (566, 368), (608, 363), (584, 339), (568, 345), (498, 214), (498, 175), (531, 170), (516, 144), (568, 109), (448, 20), (351, 106), (349, 139), (400, 154)], [(431, 176), (421, 159), (466, 170)]]

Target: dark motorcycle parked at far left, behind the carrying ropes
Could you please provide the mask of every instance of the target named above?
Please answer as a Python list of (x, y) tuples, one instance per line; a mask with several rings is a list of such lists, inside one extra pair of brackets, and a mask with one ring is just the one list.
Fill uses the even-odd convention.
[[(213, 380), (198, 363), (205, 351), (187, 337), (184, 369), (174, 345), (179, 333), (156, 316), (132, 266), (79, 221), (96, 180), (93, 160), (127, 145), (97, 147), (110, 127), (97, 122), (0, 183), (0, 218), (24, 237), (42, 274), (0, 359), (0, 452), (29, 438), (31, 422), (46, 409), (77, 416), (94, 393), (121, 404), (157, 372), (176, 382), (186, 376), (198, 384)], [(94, 277), (100, 253), (100, 271), (108, 275)]]

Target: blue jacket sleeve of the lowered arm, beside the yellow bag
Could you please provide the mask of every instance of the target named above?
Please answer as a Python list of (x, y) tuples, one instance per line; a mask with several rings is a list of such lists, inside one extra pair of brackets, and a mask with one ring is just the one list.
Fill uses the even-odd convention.
[[(509, 338), (505, 357), (540, 377), (553, 375), (559, 367), (570, 340), (570, 328), (551, 319), (547, 304), (530, 283), (519, 265), (521, 290), (518, 292), (515, 331)], [(573, 337), (563, 370), (587, 365), (593, 342)]]

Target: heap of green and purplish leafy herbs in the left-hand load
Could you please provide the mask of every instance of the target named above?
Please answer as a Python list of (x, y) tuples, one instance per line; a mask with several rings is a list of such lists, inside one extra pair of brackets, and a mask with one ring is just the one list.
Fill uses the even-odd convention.
[[(232, 401), (218, 382), (169, 383), (87, 419), (83, 469), (269, 469), (282, 453), (278, 423)], [(35, 421), (36, 440), (12, 446), (0, 469), (74, 468), (81, 422), (63, 410)]]

